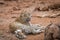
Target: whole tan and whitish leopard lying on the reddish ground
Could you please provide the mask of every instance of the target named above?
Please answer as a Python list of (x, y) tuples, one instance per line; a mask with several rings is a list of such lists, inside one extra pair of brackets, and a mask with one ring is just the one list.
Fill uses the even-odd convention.
[(18, 18), (9, 25), (9, 30), (14, 33), (19, 39), (26, 39), (27, 34), (39, 34), (44, 32), (44, 27), (39, 24), (32, 24), (31, 13), (23, 11)]

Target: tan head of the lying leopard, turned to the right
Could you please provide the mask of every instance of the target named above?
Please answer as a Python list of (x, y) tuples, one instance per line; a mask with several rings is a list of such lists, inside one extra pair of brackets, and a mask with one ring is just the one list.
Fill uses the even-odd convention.
[(20, 20), (23, 21), (24, 23), (27, 23), (31, 20), (31, 14), (29, 12), (22, 12), (20, 15)]

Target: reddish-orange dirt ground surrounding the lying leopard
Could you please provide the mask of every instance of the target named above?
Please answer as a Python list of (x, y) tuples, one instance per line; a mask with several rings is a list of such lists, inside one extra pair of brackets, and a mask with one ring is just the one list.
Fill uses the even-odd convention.
[[(0, 40), (19, 40), (18, 38), (15, 37), (14, 34), (9, 32), (9, 23), (13, 22), (20, 15), (22, 9), (28, 8), (29, 6), (32, 5), (38, 5), (40, 4), (41, 1), (47, 4), (60, 3), (60, 0), (57, 1), (56, 0), (20, 0), (20, 1), (0, 0)], [(39, 12), (40, 11), (35, 10), (33, 13), (31, 13), (32, 14), (31, 23), (40, 24), (43, 26), (47, 26), (48, 24), (50, 24), (50, 21), (52, 21), (53, 23), (60, 23), (60, 15), (56, 16), (55, 18), (35, 17), (40, 14)], [(48, 12), (48, 14), (51, 14), (49, 11), (42, 11), (42, 12)], [(60, 13), (60, 10), (54, 12)], [(26, 40), (44, 40), (44, 33), (40, 33), (37, 35), (27, 35)]]

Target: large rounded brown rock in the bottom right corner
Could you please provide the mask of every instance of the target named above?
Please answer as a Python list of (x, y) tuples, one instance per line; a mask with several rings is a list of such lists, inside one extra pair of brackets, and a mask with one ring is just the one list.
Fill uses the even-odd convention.
[(50, 24), (46, 27), (44, 40), (60, 40), (60, 25)]

